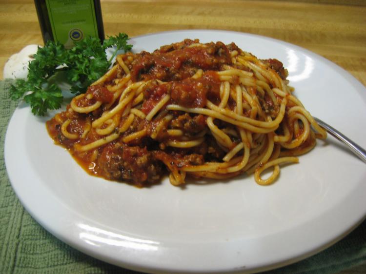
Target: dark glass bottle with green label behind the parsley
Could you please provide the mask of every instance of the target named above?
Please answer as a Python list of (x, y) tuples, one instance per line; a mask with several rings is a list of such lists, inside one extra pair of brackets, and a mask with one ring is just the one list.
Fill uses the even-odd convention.
[(104, 40), (100, 0), (35, 0), (43, 41), (71, 48), (85, 37)]

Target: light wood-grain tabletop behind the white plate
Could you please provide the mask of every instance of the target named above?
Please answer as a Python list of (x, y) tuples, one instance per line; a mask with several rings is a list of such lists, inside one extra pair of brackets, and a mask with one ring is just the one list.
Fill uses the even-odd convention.
[[(102, 13), (106, 35), (221, 29), (281, 39), (337, 63), (366, 86), (362, 0), (102, 0)], [(42, 43), (33, 0), (0, 0), (0, 71), (25, 45)], [(365, 269), (364, 264), (342, 273), (365, 273)]]

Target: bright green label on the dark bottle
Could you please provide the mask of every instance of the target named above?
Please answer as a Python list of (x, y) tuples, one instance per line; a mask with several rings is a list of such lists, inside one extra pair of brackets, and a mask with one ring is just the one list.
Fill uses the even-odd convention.
[(93, 0), (46, 0), (53, 38), (65, 47), (84, 37), (98, 37)]

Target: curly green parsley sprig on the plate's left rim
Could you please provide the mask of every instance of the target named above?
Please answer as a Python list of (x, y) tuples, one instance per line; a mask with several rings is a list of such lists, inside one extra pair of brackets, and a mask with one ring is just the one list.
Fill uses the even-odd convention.
[[(124, 33), (108, 37), (103, 44), (98, 38), (88, 37), (71, 49), (65, 49), (60, 42), (48, 41), (38, 48), (34, 60), (29, 63), (27, 79), (17, 79), (11, 86), (10, 98), (24, 98), (34, 115), (44, 116), (48, 110), (59, 109), (63, 95), (51, 79), (62, 72), (72, 93), (84, 93), (91, 83), (106, 73), (118, 51), (131, 50), (132, 45), (127, 40)], [(105, 50), (112, 46), (115, 50), (108, 60)]]

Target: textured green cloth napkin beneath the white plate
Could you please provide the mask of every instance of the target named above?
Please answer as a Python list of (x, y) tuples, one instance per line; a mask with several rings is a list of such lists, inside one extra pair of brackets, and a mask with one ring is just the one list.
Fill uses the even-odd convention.
[[(20, 204), (4, 163), (5, 132), (17, 106), (17, 102), (9, 99), (11, 83), (11, 80), (0, 81), (0, 274), (137, 274), (64, 244), (44, 230)], [(333, 274), (365, 262), (366, 221), (325, 251), (265, 273)]]

